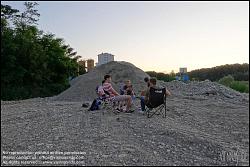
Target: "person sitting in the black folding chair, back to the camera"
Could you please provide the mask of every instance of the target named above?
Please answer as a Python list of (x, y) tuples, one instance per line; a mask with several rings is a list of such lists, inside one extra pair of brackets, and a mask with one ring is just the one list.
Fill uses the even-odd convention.
[[(145, 106), (149, 100), (149, 92), (150, 92), (150, 88), (155, 88), (155, 89), (161, 89), (162, 87), (159, 87), (156, 85), (156, 78), (151, 78), (149, 80), (149, 87), (145, 92), (145, 96), (141, 96), (141, 112), (145, 111)], [(166, 89), (166, 96), (171, 96), (171, 93)]]

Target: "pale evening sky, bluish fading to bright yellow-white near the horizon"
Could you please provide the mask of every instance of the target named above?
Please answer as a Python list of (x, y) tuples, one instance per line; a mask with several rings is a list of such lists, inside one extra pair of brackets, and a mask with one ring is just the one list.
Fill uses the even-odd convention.
[[(24, 1), (1, 1), (20, 11)], [(249, 63), (248, 1), (38, 1), (39, 29), (82, 59), (107, 52), (144, 71)]]

